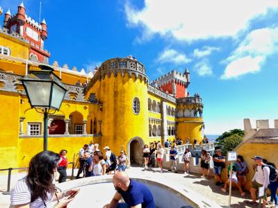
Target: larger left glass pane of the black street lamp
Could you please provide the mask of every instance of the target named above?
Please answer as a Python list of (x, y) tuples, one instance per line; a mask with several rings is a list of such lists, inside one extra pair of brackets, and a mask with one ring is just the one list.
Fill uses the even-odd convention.
[(51, 82), (42, 82), (40, 80), (25, 80), (24, 85), (31, 106), (49, 106), (51, 92)]

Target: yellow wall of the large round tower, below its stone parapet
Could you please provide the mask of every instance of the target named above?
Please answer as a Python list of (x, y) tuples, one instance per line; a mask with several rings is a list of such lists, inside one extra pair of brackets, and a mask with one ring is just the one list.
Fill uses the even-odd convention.
[[(110, 146), (111, 150), (119, 153), (126, 150), (127, 143), (133, 137), (140, 137), (149, 143), (148, 110), (147, 110), (147, 84), (134, 76), (124, 77), (120, 73), (115, 77), (98, 80), (90, 89), (99, 101), (103, 103), (101, 112), (103, 141), (101, 148)], [(140, 113), (133, 113), (133, 98), (140, 100)]]

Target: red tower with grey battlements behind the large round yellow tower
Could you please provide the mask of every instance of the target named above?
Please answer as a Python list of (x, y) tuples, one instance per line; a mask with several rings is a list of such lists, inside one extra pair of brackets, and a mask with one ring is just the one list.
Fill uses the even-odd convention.
[(190, 73), (187, 68), (183, 74), (172, 70), (171, 72), (161, 76), (161, 78), (154, 80), (154, 85), (158, 85), (158, 87), (164, 92), (173, 94), (177, 98), (184, 98), (187, 96), (187, 88), (190, 84), (189, 74)]

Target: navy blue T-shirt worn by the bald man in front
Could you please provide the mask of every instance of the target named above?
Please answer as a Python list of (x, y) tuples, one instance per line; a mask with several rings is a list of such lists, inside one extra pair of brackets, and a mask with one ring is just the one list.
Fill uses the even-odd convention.
[(130, 180), (129, 188), (126, 191), (119, 190), (117, 192), (122, 195), (128, 207), (135, 207), (140, 204), (142, 208), (156, 207), (151, 191), (141, 182)]

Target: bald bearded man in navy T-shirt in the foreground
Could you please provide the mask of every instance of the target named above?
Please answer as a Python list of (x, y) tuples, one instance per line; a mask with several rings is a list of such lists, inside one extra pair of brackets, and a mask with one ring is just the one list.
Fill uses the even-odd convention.
[(151, 191), (136, 180), (129, 179), (126, 172), (117, 172), (113, 177), (113, 184), (116, 189), (115, 196), (110, 202), (110, 205), (106, 205), (106, 208), (116, 208), (121, 198), (126, 202), (127, 207), (131, 208), (155, 208), (154, 199)]

